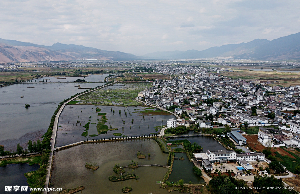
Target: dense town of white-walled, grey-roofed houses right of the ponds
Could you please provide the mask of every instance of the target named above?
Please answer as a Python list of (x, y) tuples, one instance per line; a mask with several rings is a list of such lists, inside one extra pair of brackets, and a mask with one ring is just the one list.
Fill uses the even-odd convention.
[(246, 140), (241, 134), (245, 132), (239, 128), (247, 124), (247, 127), (259, 127), (258, 142), (264, 146), (300, 148), (300, 114), (293, 114), (300, 107), (299, 85), (271, 87), (260, 80), (219, 75), (219, 71), (230, 71), (228, 68), (186, 68), (156, 67), (156, 72), (173, 74), (175, 78), (156, 79), (138, 95), (146, 104), (171, 108), (176, 115), (185, 115), (170, 119), (167, 127), (196, 124), (199, 128), (224, 128), (228, 125), (233, 132), (229, 134), (231, 139), (244, 145)]

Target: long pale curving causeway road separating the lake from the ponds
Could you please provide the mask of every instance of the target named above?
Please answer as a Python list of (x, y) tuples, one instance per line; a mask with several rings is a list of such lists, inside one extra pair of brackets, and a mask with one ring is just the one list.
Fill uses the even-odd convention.
[[(110, 83), (110, 84), (107, 84), (107, 85), (104, 85), (104, 86), (101, 86), (99, 88), (103, 88), (103, 87), (106, 87), (108, 85), (111, 85), (111, 84), (114, 84), (113, 83)], [(83, 94), (86, 94), (88, 92), (91, 92), (91, 91), (94, 91), (94, 90), (97, 90), (99, 88), (96, 88), (96, 89), (93, 89), (93, 90), (90, 90), (90, 91), (87, 91), (85, 93), (82, 93), (82, 94), (79, 94), (75, 97), (73, 97), (72, 99), (68, 100), (66, 103), (64, 103), (61, 108), (59, 109), (58, 113), (56, 114), (56, 117), (55, 117), (55, 121), (54, 121), (54, 125), (53, 125), (53, 130), (52, 130), (52, 145), (51, 145), (51, 153), (50, 153), (50, 157), (49, 157), (49, 161), (48, 161), (48, 164), (50, 164), (48, 167), (47, 167), (47, 170), (48, 170), (48, 173), (46, 175), (46, 184), (45, 184), (45, 188), (46, 187), (49, 187), (49, 179), (50, 179), (50, 172), (51, 172), (51, 169), (52, 169), (52, 158), (53, 158), (53, 151), (54, 151), (54, 146), (55, 146), (55, 140), (56, 140), (56, 136), (57, 136), (57, 127), (58, 127), (58, 119), (59, 119), (59, 115), (61, 114), (62, 110), (64, 109), (64, 106), (66, 106), (67, 103), (69, 103), (70, 101), (74, 100), (75, 98), (83, 95)], [(47, 194), (47, 191), (44, 191), (45, 194)]]

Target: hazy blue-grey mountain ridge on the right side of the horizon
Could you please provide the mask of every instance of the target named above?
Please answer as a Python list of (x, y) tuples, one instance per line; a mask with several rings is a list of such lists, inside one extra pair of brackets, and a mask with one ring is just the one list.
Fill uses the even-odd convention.
[(255, 39), (247, 43), (214, 46), (202, 51), (154, 52), (142, 56), (153, 59), (196, 59), (216, 57), (261, 60), (300, 59), (300, 32), (280, 37), (272, 41)]

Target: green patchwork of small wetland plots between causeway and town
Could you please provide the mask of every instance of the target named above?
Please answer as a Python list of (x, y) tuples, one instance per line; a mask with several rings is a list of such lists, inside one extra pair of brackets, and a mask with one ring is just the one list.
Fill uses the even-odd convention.
[(137, 106), (141, 103), (135, 97), (149, 86), (150, 83), (114, 84), (79, 96), (75, 100), (79, 101), (77, 104)]

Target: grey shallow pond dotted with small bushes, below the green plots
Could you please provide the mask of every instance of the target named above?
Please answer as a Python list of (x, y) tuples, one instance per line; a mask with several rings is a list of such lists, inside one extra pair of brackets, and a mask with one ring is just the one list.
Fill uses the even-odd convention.
[[(119, 130), (108, 131), (107, 134), (100, 134), (96, 137), (81, 136), (81, 134), (85, 130), (83, 126), (88, 122), (91, 114), (98, 115), (98, 113), (92, 113), (93, 109), (95, 110), (96, 107), (99, 107), (101, 109), (101, 112), (107, 113), (105, 115), (107, 118), (107, 122), (105, 124), (109, 128), (110, 126), (112, 126), (112, 128), (118, 128)], [(115, 113), (110, 110), (111, 108), (115, 110)], [(149, 135), (151, 133), (159, 133), (160, 130), (156, 132), (154, 127), (166, 125), (167, 120), (169, 120), (170, 118), (176, 118), (174, 115), (152, 116), (134, 113), (145, 108), (147, 107), (129, 106), (125, 108), (122, 106), (67, 105), (65, 106), (63, 112), (59, 117), (58, 125), (61, 127), (58, 127), (58, 135), (55, 145), (57, 147), (60, 147), (87, 139), (108, 139), (109, 137), (116, 137), (113, 135), (113, 133), (122, 133), (122, 135), (125, 136), (141, 136), (142, 134)], [(134, 109), (137, 110), (134, 111)], [(119, 110), (121, 110), (121, 115), (119, 114)], [(125, 112), (127, 112), (127, 116), (125, 115)], [(132, 116), (130, 116), (129, 112), (131, 112)], [(143, 118), (143, 115), (145, 116), (145, 118)], [(101, 116), (98, 116), (98, 119), (101, 120)], [(134, 119), (133, 124), (131, 123), (132, 119)], [(77, 124), (76, 126), (77, 120), (80, 121), (81, 125)], [(125, 124), (123, 123), (123, 121), (125, 121)], [(91, 126), (92, 124), (90, 124), (90, 127)], [(122, 127), (124, 127), (124, 129), (122, 129)]]

